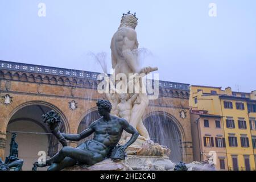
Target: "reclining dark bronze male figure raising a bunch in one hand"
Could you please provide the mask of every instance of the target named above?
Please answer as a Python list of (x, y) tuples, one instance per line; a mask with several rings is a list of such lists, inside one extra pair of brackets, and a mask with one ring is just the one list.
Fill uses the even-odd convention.
[[(34, 169), (36, 169), (36, 167), (50, 166), (48, 168), (49, 171), (57, 171), (74, 166), (75, 164), (92, 166), (109, 157), (112, 158), (112, 160), (125, 159), (125, 150), (138, 138), (138, 131), (125, 119), (110, 115), (112, 105), (109, 101), (99, 100), (97, 106), (98, 113), (102, 117), (97, 121), (94, 121), (88, 129), (82, 131), (80, 134), (64, 134), (57, 132), (53, 129), (53, 126), (59, 128), (55, 122), (55, 119), (59, 122), (56, 113), (50, 111), (52, 113), (47, 113), (48, 117), (44, 115), (44, 121), (48, 123), (52, 133), (55, 134), (63, 144), (65, 143), (63, 138), (71, 141), (79, 141), (93, 133), (94, 137), (93, 139), (81, 143), (76, 148), (68, 147), (64, 144), (64, 147), (51, 159), (46, 160), (45, 164), (36, 162), (34, 164)], [(51, 117), (51, 115), (55, 115), (55, 117)], [(130, 133), (132, 136), (126, 144), (117, 146), (123, 130)]]

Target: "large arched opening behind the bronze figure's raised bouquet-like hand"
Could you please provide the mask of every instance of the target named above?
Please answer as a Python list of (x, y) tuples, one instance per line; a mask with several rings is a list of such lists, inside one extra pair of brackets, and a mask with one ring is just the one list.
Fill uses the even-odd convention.
[[(51, 135), (49, 127), (43, 122), (42, 114), (55, 110), (43, 104), (29, 104), (16, 110), (7, 125), (5, 156), (9, 156), (11, 133), (17, 132), (16, 142), (19, 144), (19, 159), (24, 159), (23, 170), (31, 170), (32, 164), (39, 158), (38, 152), (46, 152), (49, 158), (56, 154), (60, 144)], [(61, 116), (63, 119), (63, 117)], [(65, 132), (64, 123), (60, 125), (61, 132)], [(38, 168), (46, 170), (47, 168)]]

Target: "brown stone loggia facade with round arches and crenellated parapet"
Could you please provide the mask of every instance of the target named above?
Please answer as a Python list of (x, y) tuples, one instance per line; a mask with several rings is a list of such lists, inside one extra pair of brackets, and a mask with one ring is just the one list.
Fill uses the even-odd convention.
[[(31, 161), (28, 160), (30, 165), (32, 160), (38, 158), (40, 150), (47, 150), (48, 156), (55, 154), (58, 143), (47, 135), (49, 130), (41, 115), (48, 110), (60, 113), (63, 120), (61, 130), (65, 133), (78, 133), (84, 129), (89, 125), (88, 119), (98, 117), (97, 100), (105, 98), (104, 94), (97, 92), (99, 74), (0, 61), (0, 157), (4, 159), (9, 155), (9, 131), (20, 131), (17, 137), (19, 157), (34, 156)], [(150, 100), (143, 115), (143, 121), (148, 122), (147, 127), (157, 117), (160, 119), (159, 127), (162, 127), (161, 121), (164, 120), (166, 125), (170, 123), (171, 128), (175, 128), (178, 137), (172, 139), (172, 135), (168, 135), (172, 131), (163, 127), (169, 138), (162, 140), (166, 139), (167, 144), (168, 140), (175, 140), (176, 143), (179, 140), (180, 159), (187, 163), (193, 158), (188, 101), (188, 84), (159, 81), (159, 98)], [(153, 140), (159, 139), (154, 138), (152, 133), (150, 135)], [(41, 140), (43, 138), (44, 141)], [(77, 143), (70, 142), (69, 145), (75, 147)], [(40, 148), (42, 146), (43, 149)]]

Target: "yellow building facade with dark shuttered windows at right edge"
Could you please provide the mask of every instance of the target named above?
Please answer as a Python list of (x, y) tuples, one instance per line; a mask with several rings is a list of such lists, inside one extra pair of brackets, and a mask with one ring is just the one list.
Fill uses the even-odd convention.
[(255, 170), (256, 92), (191, 85), (189, 106), (221, 115), (229, 170)]

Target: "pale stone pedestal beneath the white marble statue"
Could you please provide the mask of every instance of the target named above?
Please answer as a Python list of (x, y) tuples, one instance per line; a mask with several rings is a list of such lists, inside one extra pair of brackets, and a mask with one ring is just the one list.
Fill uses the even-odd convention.
[(105, 159), (93, 166), (74, 166), (69, 171), (154, 171), (172, 170), (175, 164), (169, 160), (170, 149), (147, 140), (142, 145), (131, 145), (126, 150), (125, 160), (113, 162)]

